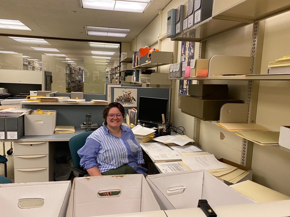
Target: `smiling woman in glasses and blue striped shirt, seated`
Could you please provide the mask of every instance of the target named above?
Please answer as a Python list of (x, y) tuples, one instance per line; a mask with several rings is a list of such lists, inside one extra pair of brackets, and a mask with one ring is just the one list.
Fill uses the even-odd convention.
[(118, 102), (104, 108), (103, 126), (78, 150), (80, 165), (90, 176), (144, 174), (142, 149), (132, 130), (122, 125), (125, 109)]

